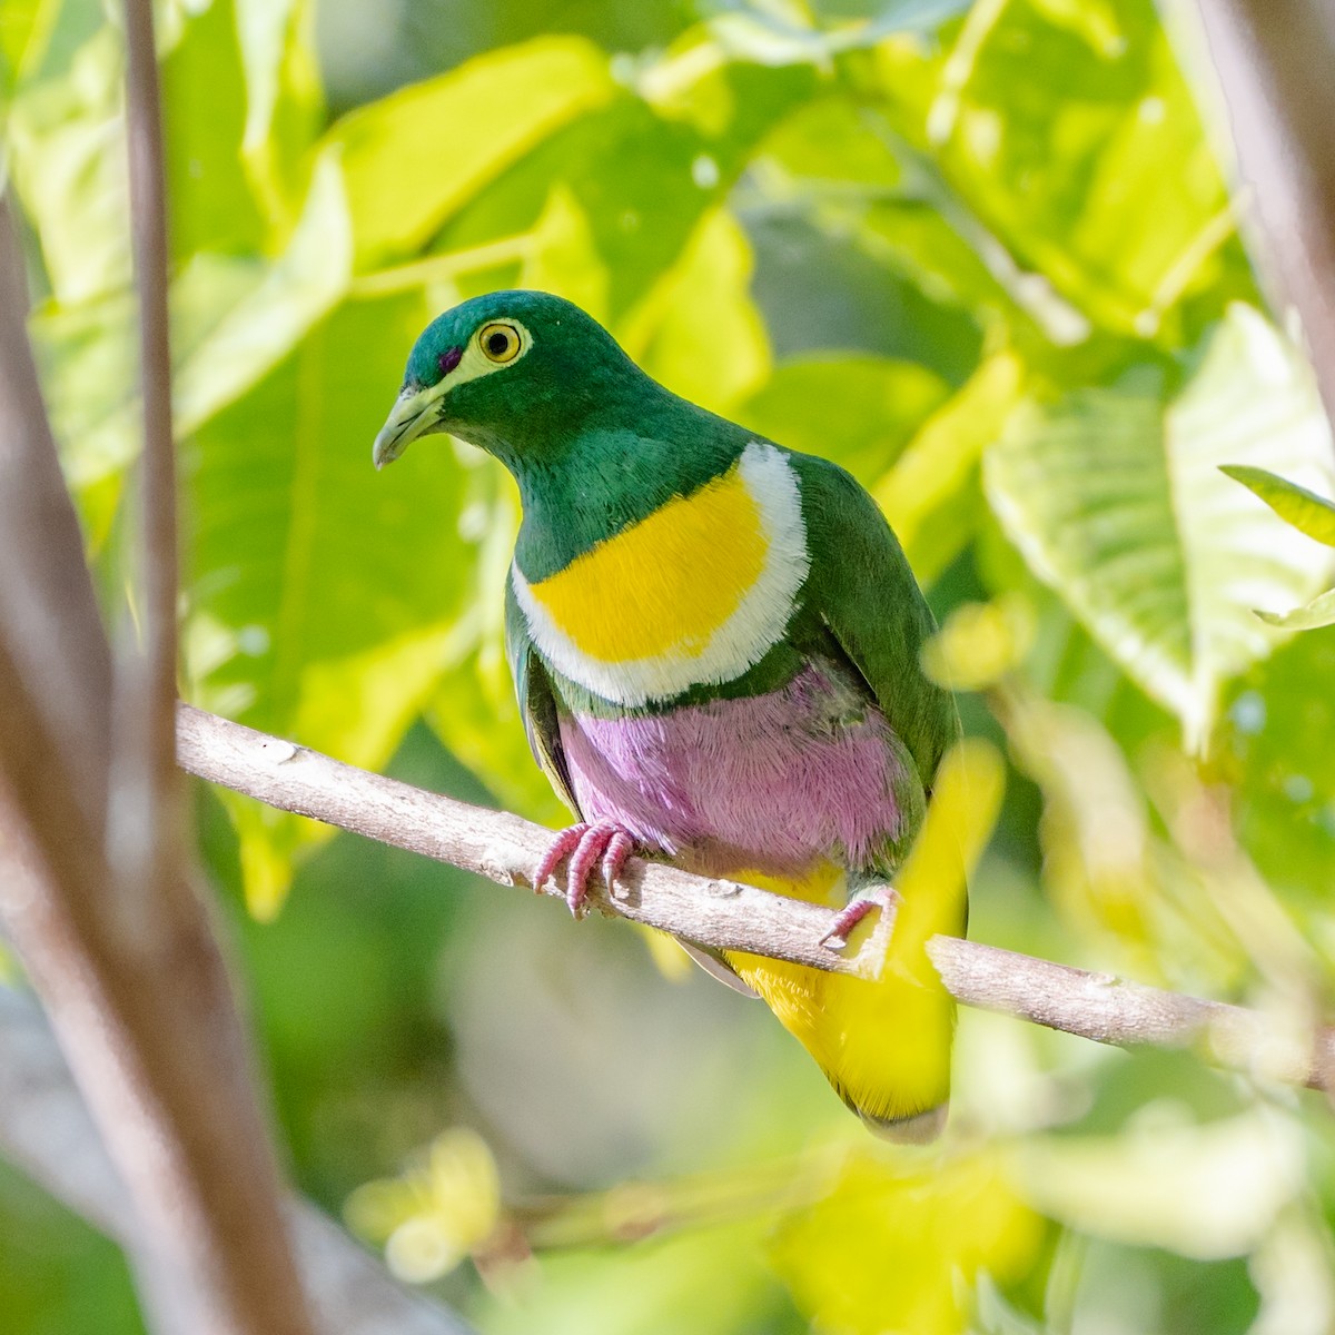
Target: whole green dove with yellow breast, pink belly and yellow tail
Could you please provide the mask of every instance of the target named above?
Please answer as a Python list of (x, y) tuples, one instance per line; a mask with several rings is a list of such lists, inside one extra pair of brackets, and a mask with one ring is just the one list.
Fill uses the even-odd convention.
[[(535, 884), (569, 856), (578, 912), (638, 849), (840, 908), (840, 933), (888, 902), (959, 722), (918, 665), (932, 617), (866, 491), (669, 392), (543, 292), (427, 326), (376, 467), (434, 431), (519, 485), (507, 651), (533, 752), (579, 817)], [(963, 901), (928, 908), (963, 930)], [(876, 984), (702, 963), (764, 997), (866, 1123), (913, 1140), (944, 1116), (955, 1012), (905, 934)]]

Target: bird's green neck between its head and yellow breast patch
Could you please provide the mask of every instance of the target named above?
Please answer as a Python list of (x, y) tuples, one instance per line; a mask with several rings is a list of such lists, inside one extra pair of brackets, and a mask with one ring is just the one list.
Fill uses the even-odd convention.
[(732, 467), (750, 439), (663, 390), (645, 395), (633, 415), (591, 414), (562, 449), (549, 438), (541, 457), (487, 442), (519, 483), (515, 558), (525, 578), (546, 579), (674, 495), (689, 495)]

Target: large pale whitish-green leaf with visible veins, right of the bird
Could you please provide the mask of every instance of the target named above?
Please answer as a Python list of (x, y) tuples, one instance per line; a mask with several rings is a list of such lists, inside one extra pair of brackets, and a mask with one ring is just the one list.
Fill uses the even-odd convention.
[(1251, 609), (1311, 597), (1328, 567), (1219, 465), (1323, 482), (1330, 449), (1311, 371), (1238, 306), (1176, 399), (1128, 386), (1029, 403), (984, 478), (1033, 571), (1200, 746), (1220, 685), (1270, 649)]

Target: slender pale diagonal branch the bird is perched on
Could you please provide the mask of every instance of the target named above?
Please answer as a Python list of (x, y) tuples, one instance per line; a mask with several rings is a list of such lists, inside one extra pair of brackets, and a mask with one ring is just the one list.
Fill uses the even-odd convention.
[[(176, 750), (183, 769), (295, 812), (364, 834), (502, 885), (533, 886), (550, 830), (505, 812), (423, 792), (267, 733), (179, 705)], [(836, 973), (874, 976), (873, 941), (848, 957), (821, 945), (834, 913), (734, 881), (708, 880), (633, 858), (615, 898), (594, 888), (602, 912), (718, 951), (745, 951)], [(1124, 983), (1112, 975), (937, 936), (928, 953), (963, 1004), (1013, 1015), (1096, 1043), (1195, 1048), (1224, 1067), (1271, 1080), (1322, 1087), (1332, 1069), (1335, 1031), (1287, 1031), (1274, 1017), (1199, 997)]]

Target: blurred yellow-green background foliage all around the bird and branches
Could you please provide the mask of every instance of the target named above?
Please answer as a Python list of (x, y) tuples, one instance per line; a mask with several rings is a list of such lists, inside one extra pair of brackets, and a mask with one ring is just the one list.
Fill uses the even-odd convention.
[[(116, 609), (109, 8), (3, 0), (0, 99)], [(1151, 0), (159, 15), (187, 698), (561, 820), (501, 654), (509, 482), (446, 438), (370, 469), (426, 320), (550, 288), (884, 506), (943, 622), (932, 669), (1007, 760), (975, 936), (1298, 1039), (1328, 1012), (1335, 630), (1255, 610), (1320, 602), (1330, 530), (1286, 525), (1266, 501), (1294, 519), (1296, 493), (1255, 470), (1319, 510), (1331, 441), (1239, 242), (1180, 9), (1167, 31)], [(296, 1181), (487, 1335), (1335, 1326), (1316, 1095), (965, 1013), (944, 1141), (884, 1147), (762, 1008), (625, 925), (198, 798)], [(113, 1248), (9, 1171), (0, 1311), (140, 1330)]]

